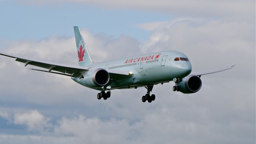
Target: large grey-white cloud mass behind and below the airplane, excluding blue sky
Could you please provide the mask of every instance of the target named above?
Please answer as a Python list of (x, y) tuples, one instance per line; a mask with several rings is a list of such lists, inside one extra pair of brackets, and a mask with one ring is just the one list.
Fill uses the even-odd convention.
[[(202, 76), (195, 94), (172, 92), (172, 82), (156, 85), (149, 104), (141, 102), (145, 88), (112, 90), (110, 99), (97, 100), (96, 90), (68, 77), (27, 70), (1, 56), (0, 116), (10, 131), (26, 128), (20, 128), (24, 134), (3, 132), (0, 143), (255, 143), (255, 22), (192, 17), (138, 25), (151, 32), (144, 42), (82, 29), (94, 61), (177, 50), (194, 72), (236, 66)], [(1, 51), (77, 65), (74, 38), (13, 41)]]

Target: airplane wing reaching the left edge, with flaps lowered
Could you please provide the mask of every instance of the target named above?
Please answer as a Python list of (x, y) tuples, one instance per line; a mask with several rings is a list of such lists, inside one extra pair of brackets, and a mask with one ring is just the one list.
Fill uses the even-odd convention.
[[(40, 61), (40, 60), (34, 60), (31, 58), (24, 58), (24, 57), (16, 56), (13, 54), (7, 54), (4, 52), (0, 52), (0, 55), (14, 58), (15, 61), (24, 63), (25, 64), (24, 66), (27, 66), (28, 64), (30, 64), (33, 66), (38, 66), (41, 68), (48, 69), (48, 71), (47, 70), (38, 70), (38, 71), (50, 72), (53, 74), (61, 74), (64, 76), (71, 76), (71, 77), (75, 77), (75, 78), (84, 78), (84, 76), (83, 76), (84, 72), (86, 72), (90, 69), (88, 67), (82, 67), (82, 66), (68, 66), (68, 65), (56, 64), (56, 63), (52, 63), (52, 62), (44, 62), (44, 61)], [(37, 70), (37, 69), (30, 69), (30, 70)], [(57, 72), (51, 72), (52, 70), (57, 71)], [(129, 76), (129, 74), (130, 74), (130, 72), (121, 71), (121, 70), (110, 70), (108, 72), (110, 74), (110, 78), (112, 78), (112, 79), (120, 79), (120, 78), (122, 79), (126, 76)]]

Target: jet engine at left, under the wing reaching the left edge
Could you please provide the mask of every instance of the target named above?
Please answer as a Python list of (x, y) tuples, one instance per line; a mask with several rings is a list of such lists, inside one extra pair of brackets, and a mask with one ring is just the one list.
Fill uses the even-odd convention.
[(96, 68), (89, 70), (84, 76), (85, 84), (95, 88), (99, 86), (106, 86), (110, 80), (109, 73), (103, 68)]

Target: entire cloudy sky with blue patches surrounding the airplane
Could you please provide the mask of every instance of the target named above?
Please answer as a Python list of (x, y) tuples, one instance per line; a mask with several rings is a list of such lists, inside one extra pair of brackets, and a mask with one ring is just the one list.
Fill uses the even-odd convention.
[(97, 90), (0, 56), (2, 144), (255, 144), (254, 0), (0, 0), (0, 51), (77, 66), (73, 26), (92, 59), (180, 51), (202, 76), (194, 94), (156, 85)]

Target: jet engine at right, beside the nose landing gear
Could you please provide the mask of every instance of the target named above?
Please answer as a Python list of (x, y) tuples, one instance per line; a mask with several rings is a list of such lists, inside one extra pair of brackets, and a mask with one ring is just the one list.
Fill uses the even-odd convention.
[(198, 92), (202, 87), (201, 79), (196, 75), (190, 75), (187, 78), (183, 78), (181, 82), (177, 84), (180, 88), (180, 92), (184, 94), (191, 94)]

